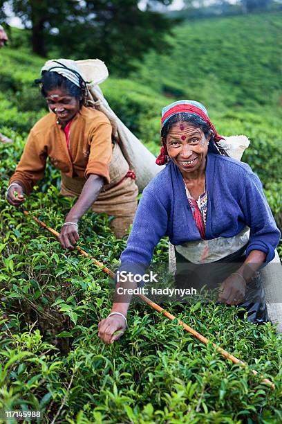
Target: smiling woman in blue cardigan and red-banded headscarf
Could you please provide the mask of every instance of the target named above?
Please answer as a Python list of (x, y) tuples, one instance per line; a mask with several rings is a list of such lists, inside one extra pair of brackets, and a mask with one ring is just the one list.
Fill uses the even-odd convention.
[[(162, 109), (157, 164), (167, 166), (143, 192), (119, 273), (143, 275), (158, 241), (168, 236), (176, 248), (178, 287), (208, 276), (218, 301), (242, 306), (249, 321), (261, 323), (268, 317), (259, 269), (274, 258), (280, 232), (259, 177), (225, 156), (220, 139), (201, 103), (180, 100)], [(205, 268), (211, 263), (220, 264), (219, 284), (218, 272)], [(136, 285), (129, 278), (117, 283), (111, 314), (99, 324), (104, 342), (124, 333), (129, 289)]]

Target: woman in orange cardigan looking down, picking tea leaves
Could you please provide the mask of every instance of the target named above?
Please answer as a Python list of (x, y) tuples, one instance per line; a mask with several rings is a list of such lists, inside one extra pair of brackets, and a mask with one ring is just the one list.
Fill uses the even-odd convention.
[(46, 159), (61, 171), (61, 194), (78, 196), (66, 215), (59, 236), (63, 248), (79, 240), (78, 221), (92, 206), (97, 213), (113, 215), (115, 235), (126, 234), (137, 207), (134, 173), (102, 112), (84, 106), (86, 82), (71, 60), (49, 61), (41, 69), (41, 93), (50, 112), (30, 131), (17, 169), (10, 179), (7, 200), (13, 206), (44, 176)]

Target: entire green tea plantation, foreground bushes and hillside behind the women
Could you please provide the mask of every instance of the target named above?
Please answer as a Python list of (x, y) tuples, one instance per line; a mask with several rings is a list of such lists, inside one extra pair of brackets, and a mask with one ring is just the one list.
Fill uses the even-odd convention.
[[(280, 228), (281, 16), (182, 25), (171, 51), (159, 58), (151, 52), (128, 80), (111, 76), (101, 86), (154, 154), (160, 109), (179, 98), (203, 101), (220, 134), (246, 134), (251, 145), (243, 160), (261, 177)], [(282, 422), (282, 339), (274, 326), (239, 320), (236, 307), (165, 305), (247, 362), (245, 369), (142, 303), (131, 306), (122, 339), (106, 346), (97, 337), (97, 323), (111, 310), (106, 274), (77, 251), (62, 251), (50, 233), (6, 202), (28, 131), (46, 113), (32, 84), (43, 63), (26, 48), (0, 51), (0, 132), (14, 140), (0, 143), (0, 411), (37, 409), (41, 423)], [(59, 173), (48, 164), (24, 208), (59, 231), (72, 202), (59, 197)], [(91, 255), (111, 269), (118, 265), (126, 240), (111, 234), (106, 216), (84, 215), (79, 235)], [(153, 260), (167, 256), (162, 240)]]

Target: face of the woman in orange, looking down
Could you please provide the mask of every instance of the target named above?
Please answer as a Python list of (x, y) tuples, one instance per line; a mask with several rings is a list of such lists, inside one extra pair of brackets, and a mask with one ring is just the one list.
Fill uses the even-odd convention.
[(79, 100), (62, 88), (50, 90), (46, 96), (48, 107), (57, 115), (59, 123), (65, 125), (79, 112)]

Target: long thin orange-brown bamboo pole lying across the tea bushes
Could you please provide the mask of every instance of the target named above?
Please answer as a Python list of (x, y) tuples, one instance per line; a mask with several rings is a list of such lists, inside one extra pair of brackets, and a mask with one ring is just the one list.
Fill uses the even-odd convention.
[[(48, 231), (50, 231), (50, 233), (52, 233), (54, 236), (56, 236), (56, 237), (59, 236), (59, 233), (57, 231), (55, 231), (55, 229), (53, 229), (51, 227), (48, 227), (45, 224), (45, 222), (39, 220), (35, 216), (32, 216), (28, 211), (23, 211), (23, 213), (25, 215), (30, 215), (30, 217), (32, 218), (32, 220), (34, 220), (35, 222), (37, 222), (37, 224), (41, 225), (41, 227), (44, 227), (45, 229), (47, 229)], [(91, 258), (93, 260), (93, 262), (95, 263), (95, 265), (97, 265), (98, 267), (100, 267), (103, 272), (106, 272), (106, 274), (108, 274), (109, 276), (111, 276), (113, 279), (115, 278), (114, 272), (111, 271), (111, 270), (109, 270), (109, 268), (107, 268), (99, 260), (93, 258), (93, 256), (90, 256), (81, 247), (78, 247), (77, 246), (76, 249), (79, 251), (80, 254), (82, 254), (86, 258)], [(196, 337), (198, 340), (200, 340), (200, 342), (203, 342), (204, 344), (208, 344), (209, 343), (209, 339), (207, 339), (207, 337), (205, 337), (205, 336), (201, 335), (200, 333), (198, 333), (198, 331), (194, 330), (194, 328), (191, 328), (191, 327), (187, 326), (187, 324), (185, 324), (183, 321), (181, 321), (180, 319), (178, 319), (175, 315), (172, 315), (167, 310), (164, 310), (164, 308), (162, 308), (161, 306), (159, 306), (157, 303), (151, 301), (148, 297), (144, 296), (144, 294), (138, 294), (138, 297), (140, 297), (140, 299), (142, 299), (142, 301), (144, 301), (145, 303), (147, 303), (147, 305), (151, 306), (151, 308), (157, 310), (158, 312), (160, 312), (162, 315), (164, 315), (165, 317), (167, 317), (171, 321), (173, 321), (173, 319), (177, 319), (178, 325), (181, 326), (182, 328), (184, 328), (188, 333), (190, 333), (191, 335), (193, 335), (194, 337)], [(223, 355), (227, 359), (231, 360), (234, 364), (240, 364), (243, 367), (247, 367), (247, 364), (245, 362), (239, 360), (238, 357), (236, 357), (234, 355), (231, 355), (230, 353), (228, 353), (227, 351), (225, 351), (223, 348), (220, 348), (220, 346), (218, 346), (218, 344), (212, 342), (212, 346), (214, 346), (214, 348), (216, 348), (216, 351), (220, 352), (221, 355)], [(259, 376), (259, 373), (256, 370), (251, 369), (251, 371), (252, 371), (252, 373), (255, 376)], [(265, 382), (265, 384), (267, 386), (271, 387), (272, 389), (275, 389), (274, 383), (272, 381), (268, 380), (268, 378), (263, 378), (263, 376), (259, 376), (259, 378), (261, 378), (261, 380), (263, 382)]]

